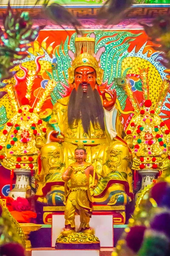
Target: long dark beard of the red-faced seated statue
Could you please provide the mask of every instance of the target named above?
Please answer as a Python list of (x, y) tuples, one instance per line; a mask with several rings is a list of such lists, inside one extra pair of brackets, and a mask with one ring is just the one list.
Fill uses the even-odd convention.
[(88, 134), (90, 122), (94, 126), (99, 123), (105, 131), (104, 110), (102, 100), (96, 89), (92, 90), (88, 84), (87, 93), (83, 93), (82, 85), (79, 84), (78, 90), (74, 88), (68, 102), (68, 125), (73, 125), (75, 120), (82, 120), (82, 127)]

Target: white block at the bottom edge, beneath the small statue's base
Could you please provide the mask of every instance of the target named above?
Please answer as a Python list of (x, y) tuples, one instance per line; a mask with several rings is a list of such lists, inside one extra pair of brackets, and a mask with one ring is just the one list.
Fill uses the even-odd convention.
[(32, 250), (31, 256), (99, 256), (99, 250)]

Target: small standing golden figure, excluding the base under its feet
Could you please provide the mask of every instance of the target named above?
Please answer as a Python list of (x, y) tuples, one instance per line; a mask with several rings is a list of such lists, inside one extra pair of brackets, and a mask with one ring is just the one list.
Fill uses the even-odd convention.
[(87, 152), (85, 148), (78, 147), (74, 154), (76, 163), (68, 166), (67, 170), (62, 175), (62, 179), (67, 186), (68, 180), (71, 180), (69, 192), (66, 195), (67, 201), (65, 204), (65, 230), (63, 236), (72, 233), (75, 230), (75, 213), (79, 212), (80, 227), (79, 232), (93, 233), (90, 230), (89, 221), (92, 213), (92, 198), (89, 189), (89, 176), (94, 177), (94, 184), (91, 189), (95, 189), (98, 183), (98, 176), (94, 172), (94, 167), (91, 163), (87, 163)]

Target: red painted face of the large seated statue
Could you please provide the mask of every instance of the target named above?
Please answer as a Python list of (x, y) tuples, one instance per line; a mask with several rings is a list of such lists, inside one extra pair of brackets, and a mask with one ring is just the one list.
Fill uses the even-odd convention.
[(87, 84), (91, 85), (92, 90), (94, 90), (95, 88), (97, 89), (96, 71), (93, 67), (77, 67), (74, 75), (74, 87), (76, 88), (76, 90), (78, 89), (79, 84), (82, 84), (83, 93), (86, 93), (88, 90)]

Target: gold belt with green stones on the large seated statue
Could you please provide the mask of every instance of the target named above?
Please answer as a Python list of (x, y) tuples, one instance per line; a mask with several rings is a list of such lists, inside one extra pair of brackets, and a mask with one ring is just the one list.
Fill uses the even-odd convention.
[(107, 139), (106, 138), (101, 138), (101, 139), (91, 138), (91, 139), (83, 139), (82, 140), (82, 139), (65, 137), (64, 141), (72, 143), (72, 144), (82, 144), (83, 143), (83, 144), (86, 144), (86, 145), (99, 145), (101, 143), (106, 143)]

